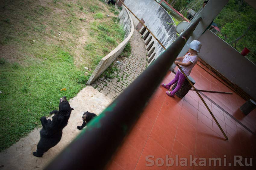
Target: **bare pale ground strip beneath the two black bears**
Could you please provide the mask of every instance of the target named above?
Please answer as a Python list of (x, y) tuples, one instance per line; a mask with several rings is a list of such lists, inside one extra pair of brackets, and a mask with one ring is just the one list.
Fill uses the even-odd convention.
[(1, 153), (1, 169), (43, 169), (80, 132), (76, 126), (82, 125), (81, 112), (89, 111), (98, 115), (112, 100), (92, 86), (87, 86), (69, 102), (74, 110), (72, 110), (68, 125), (63, 129), (61, 141), (55, 147), (48, 150), (41, 158), (33, 156), (32, 153), (36, 151), (36, 145), (40, 139), (41, 128), (35, 129), (27, 137), (21, 138)]

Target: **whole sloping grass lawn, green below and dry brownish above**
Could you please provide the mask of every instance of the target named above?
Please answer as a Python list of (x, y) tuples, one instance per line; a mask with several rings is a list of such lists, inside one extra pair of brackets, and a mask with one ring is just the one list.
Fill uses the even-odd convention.
[(117, 15), (94, 0), (1, 1), (1, 151), (41, 127), (60, 97), (85, 87), (100, 59), (123, 41)]

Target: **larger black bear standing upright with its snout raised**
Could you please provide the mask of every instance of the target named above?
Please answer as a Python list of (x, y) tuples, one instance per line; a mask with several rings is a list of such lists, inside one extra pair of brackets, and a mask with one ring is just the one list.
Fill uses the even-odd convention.
[(33, 152), (34, 156), (42, 157), (47, 150), (59, 143), (62, 137), (62, 129), (67, 125), (71, 110), (74, 109), (70, 107), (67, 98), (64, 96), (60, 98), (59, 111), (54, 110), (50, 113), (54, 113), (52, 120), (46, 120), (45, 116), (41, 117), (43, 128), (40, 130), (40, 141), (37, 144), (36, 152)]

